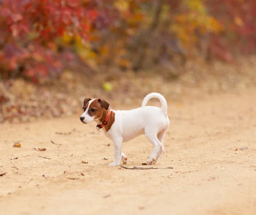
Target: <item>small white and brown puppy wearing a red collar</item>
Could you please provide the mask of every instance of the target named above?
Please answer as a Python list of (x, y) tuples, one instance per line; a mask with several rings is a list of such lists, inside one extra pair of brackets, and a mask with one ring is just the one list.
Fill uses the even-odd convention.
[[(162, 107), (146, 106), (152, 98), (159, 99)], [(163, 138), (170, 125), (166, 99), (160, 93), (149, 93), (140, 108), (112, 110), (109, 105), (105, 99), (85, 98), (84, 113), (80, 117), (84, 124), (96, 121), (96, 128), (102, 129), (105, 136), (113, 141), (114, 161), (109, 166), (119, 166), (120, 160), (126, 164), (127, 156), (122, 152), (122, 143), (142, 134), (145, 134), (153, 145), (153, 151), (146, 163), (157, 163), (163, 154)]]

